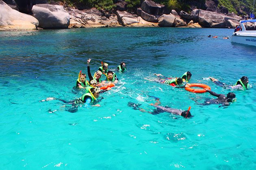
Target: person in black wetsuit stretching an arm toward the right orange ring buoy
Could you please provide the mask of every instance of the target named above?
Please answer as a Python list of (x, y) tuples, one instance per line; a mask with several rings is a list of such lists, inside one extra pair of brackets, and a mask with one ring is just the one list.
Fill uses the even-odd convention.
[(227, 96), (225, 94), (217, 94), (213, 91), (207, 90), (211, 95), (216, 96), (217, 99), (210, 99), (210, 100), (206, 100), (205, 104), (203, 105), (207, 105), (207, 104), (224, 104), (224, 105), (229, 105), (230, 102), (233, 102), (233, 99), (236, 97), (236, 95), (232, 92), (229, 92), (227, 94)]

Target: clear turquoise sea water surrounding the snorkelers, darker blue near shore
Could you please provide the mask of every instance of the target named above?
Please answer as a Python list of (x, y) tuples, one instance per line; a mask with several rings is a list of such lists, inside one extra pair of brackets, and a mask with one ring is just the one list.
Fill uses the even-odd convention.
[[(231, 43), (233, 29), (102, 28), (0, 32), (0, 163), (3, 169), (255, 169), (256, 48)], [(219, 38), (208, 38), (217, 35)], [(101, 61), (128, 71), (120, 84), (102, 94), (101, 107), (69, 113), (59, 101), (72, 100), (78, 72)], [(213, 98), (144, 80), (192, 72), (191, 83), (215, 77), (234, 84), (246, 75), (251, 88), (234, 91), (228, 107), (199, 106)], [(161, 105), (187, 109), (191, 119), (169, 113), (150, 115), (127, 106), (153, 110)], [(192, 100), (193, 99), (193, 100)], [(54, 113), (51, 111), (56, 110)], [(177, 118), (177, 119), (174, 119)]]

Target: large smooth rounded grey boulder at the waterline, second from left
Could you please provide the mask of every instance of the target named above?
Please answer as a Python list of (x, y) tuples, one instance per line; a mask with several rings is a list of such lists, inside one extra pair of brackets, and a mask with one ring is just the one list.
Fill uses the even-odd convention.
[(65, 29), (69, 26), (69, 13), (61, 5), (37, 4), (33, 6), (32, 12), (40, 28)]

